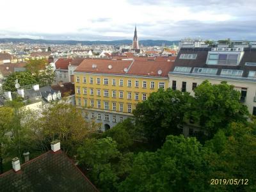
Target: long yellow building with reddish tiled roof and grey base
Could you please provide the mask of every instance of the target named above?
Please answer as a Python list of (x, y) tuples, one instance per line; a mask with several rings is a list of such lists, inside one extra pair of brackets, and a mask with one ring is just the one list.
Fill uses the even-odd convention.
[(138, 102), (168, 87), (172, 61), (84, 60), (75, 70), (76, 106), (105, 131), (132, 116)]

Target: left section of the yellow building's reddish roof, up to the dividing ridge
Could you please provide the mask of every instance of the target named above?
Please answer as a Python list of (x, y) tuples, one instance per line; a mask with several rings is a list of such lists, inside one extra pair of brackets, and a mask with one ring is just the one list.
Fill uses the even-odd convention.
[[(109, 74), (125, 74), (124, 68), (129, 68), (133, 60), (84, 60), (77, 68), (76, 72), (94, 72)], [(92, 66), (96, 65), (95, 68)], [(111, 69), (108, 66), (111, 65)]]

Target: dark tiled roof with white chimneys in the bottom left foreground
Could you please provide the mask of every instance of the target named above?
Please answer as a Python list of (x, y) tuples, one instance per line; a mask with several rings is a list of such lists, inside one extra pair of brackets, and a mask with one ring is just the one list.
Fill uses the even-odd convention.
[(46, 152), (0, 175), (0, 191), (98, 191), (64, 152)]

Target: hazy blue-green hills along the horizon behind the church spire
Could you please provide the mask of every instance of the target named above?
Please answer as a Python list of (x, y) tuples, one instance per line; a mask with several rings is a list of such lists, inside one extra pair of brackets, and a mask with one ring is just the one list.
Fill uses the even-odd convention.
[[(0, 43), (26, 43), (26, 44), (66, 44), (66, 45), (131, 45), (132, 40), (113, 40), (113, 41), (76, 41), (76, 40), (43, 40), (30, 38), (0, 38)], [(179, 41), (167, 40), (140, 40), (140, 45), (144, 46), (161, 46), (179, 44)]]

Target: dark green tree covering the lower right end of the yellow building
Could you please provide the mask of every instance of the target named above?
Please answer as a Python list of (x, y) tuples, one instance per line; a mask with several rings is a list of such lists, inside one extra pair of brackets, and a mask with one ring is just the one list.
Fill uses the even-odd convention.
[(150, 144), (160, 147), (167, 135), (181, 133), (177, 125), (183, 122), (190, 99), (189, 93), (168, 88), (151, 93), (147, 100), (137, 104), (133, 111), (136, 125)]

